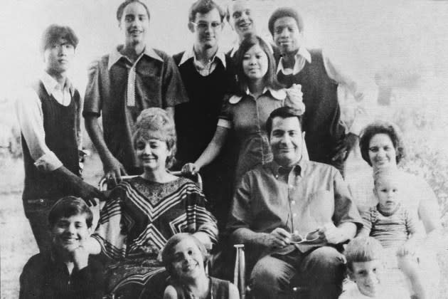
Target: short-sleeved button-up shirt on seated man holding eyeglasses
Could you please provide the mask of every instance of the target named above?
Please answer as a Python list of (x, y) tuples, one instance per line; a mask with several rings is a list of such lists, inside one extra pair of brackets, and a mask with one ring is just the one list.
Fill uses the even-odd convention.
[[(281, 227), (305, 236), (317, 228), (345, 222), (362, 225), (358, 209), (334, 167), (302, 159), (292, 169), (270, 162), (247, 172), (236, 189), (228, 229), (267, 233)], [(305, 252), (326, 246), (321, 239), (296, 244)]]

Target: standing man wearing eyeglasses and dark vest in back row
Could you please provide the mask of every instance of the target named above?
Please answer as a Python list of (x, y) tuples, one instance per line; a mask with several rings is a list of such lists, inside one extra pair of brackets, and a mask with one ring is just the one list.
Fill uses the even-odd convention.
[[(224, 17), (225, 11), (214, 1), (194, 2), (188, 13), (193, 45), (174, 56), (190, 100), (176, 106), (178, 166), (196, 161), (206, 149), (215, 133), (224, 95), (235, 89), (233, 65), (219, 46)], [(228, 182), (233, 181), (229, 177), (227, 152), (223, 151), (220, 159), (201, 170), (204, 193), (220, 226), (229, 208), (216, 204), (228, 205), (231, 196)]]

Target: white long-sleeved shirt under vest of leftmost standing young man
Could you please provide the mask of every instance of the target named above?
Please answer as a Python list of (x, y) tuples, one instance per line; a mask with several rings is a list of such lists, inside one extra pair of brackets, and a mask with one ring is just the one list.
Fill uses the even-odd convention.
[[(43, 83), (48, 95), (52, 95), (55, 100), (67, 107), (75, 94), (75, 88), (70, 83), (70, 80), (65, 80), (63, 88), (58, 82), (53, 79), (48, 73), (43, 72), (39, 78)], [(80, 127), (80, 109), (81, 105), (77, 105), (76, 120), (78, 126), (75, 128), (77, 132), (78, 147), (81, 149), (81, 127)], [(44, 172), (52, 172), (55, 169), (63, 166), (60, 159), (56, 157), (45, 142), (45, 130), (43, 128), (43, 111), (41, 99), (33, 88), (26, 88), (18, 95), (16, 100), (16, 113), (18, 124), (21, 127), (23, 137), (25, 137), (26, 144), (30, 151), (31, 157), (35, 161), (36, 167)]]

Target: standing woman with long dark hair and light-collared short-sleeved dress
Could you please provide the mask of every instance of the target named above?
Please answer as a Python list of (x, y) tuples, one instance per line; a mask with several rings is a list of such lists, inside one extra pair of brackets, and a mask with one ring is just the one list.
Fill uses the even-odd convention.
[(275, 61), (269, 46), (259, 36), (247, 36), (235, 55), (238, 93), (225, 101), (213, 140), (196, 162), (183, 166), (196, 173), (218, 156), (234, 130), (238, 148), (235, 182), (242, 174), (272, 160), (265, 123), (270, 112), (288, 105), (304, 111), (302, 92), (294, 86), (282, 88), (276, 79)]

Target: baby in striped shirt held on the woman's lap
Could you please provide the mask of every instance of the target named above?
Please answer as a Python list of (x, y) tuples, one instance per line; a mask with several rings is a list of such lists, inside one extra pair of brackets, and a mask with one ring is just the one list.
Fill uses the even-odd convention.
[[(402, 203), (400, 189), (403, 186), (400, 172), (385, 167), (374, 174), (373, 193), (378, 204), (366, 211), (361, 236), (372, 236), (385, 248), (385, 267), (390, 285), (410, 283), (412, 298), (428, 297), (428, 286), (422, 275), (417, 250), (417, 220)], [(403, 280), (402, 273), (407, 278)]]

